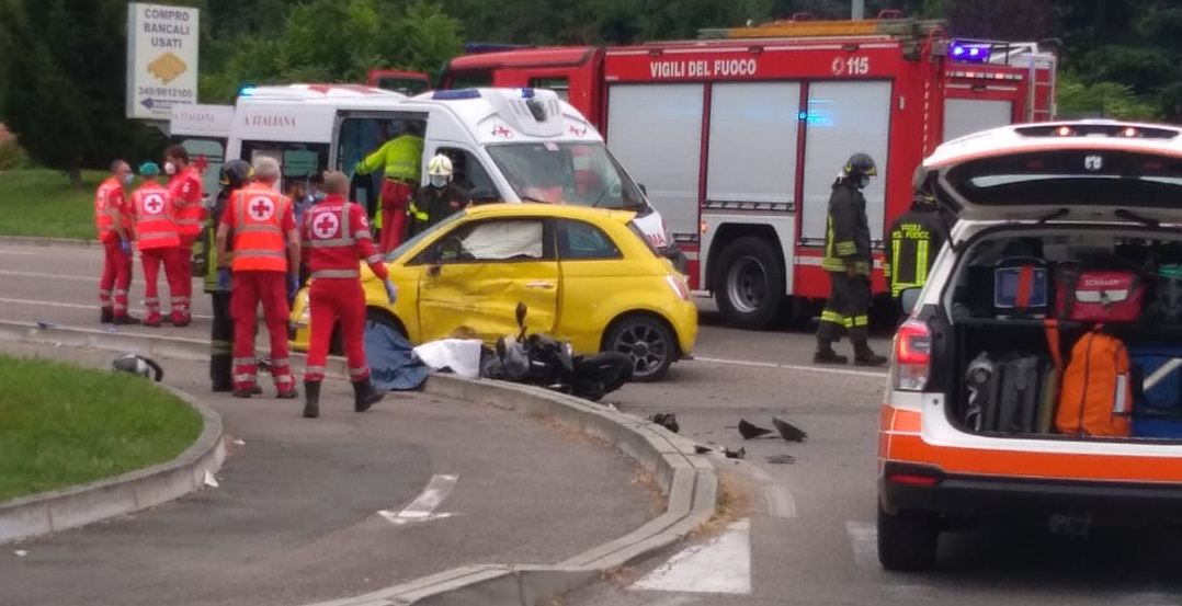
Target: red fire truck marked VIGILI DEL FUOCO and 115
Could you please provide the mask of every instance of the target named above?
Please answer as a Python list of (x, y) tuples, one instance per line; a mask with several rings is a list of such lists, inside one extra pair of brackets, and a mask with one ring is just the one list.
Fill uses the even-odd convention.
[(865, 151), (865, 191), (885, 284), (885, 226), (940, 143), (1051, 119), (1056, 54), (1035, 43), (954, 40), (942, 21), (795, 17), (703, 30), (701, 39), (541, 47), (453, 59), (440, 87), (559, 91), (604, 133), (729, 325), (807, 319), (829, 295), (820, 268), (830, 185)]

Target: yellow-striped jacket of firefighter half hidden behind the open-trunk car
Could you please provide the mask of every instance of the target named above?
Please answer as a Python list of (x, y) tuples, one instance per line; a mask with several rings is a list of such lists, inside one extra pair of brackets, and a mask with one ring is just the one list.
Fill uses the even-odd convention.
[(891, 297), (922, 287), (940, 248), (948, 241), (948, 227), (930, 198), (916, 195), (911, 210), (900, 215), (886, 233), (883, 275)]

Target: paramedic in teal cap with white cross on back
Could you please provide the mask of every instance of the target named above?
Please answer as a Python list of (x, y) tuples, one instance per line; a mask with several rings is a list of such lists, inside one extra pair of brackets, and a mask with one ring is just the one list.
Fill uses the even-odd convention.
[(173, 297), (173, 324), (183, 325), (181, 274), (176, 262), (176, 247), (181, 239), (176, 234), (176, 223), (173, 222), (173, 200), (168, 189), (156, 182), (160, 167), (155, 162), (141, 164), (139, 176), (144, 184), (131, 194), (131, 207), (136, 214), (136, 247), (144, 267), (144, 305), (148, 306), (144, 326), (158, 327), (162, 321), (160, 293), (156, 288), (161, 266), (164, 266), (168, 291)]

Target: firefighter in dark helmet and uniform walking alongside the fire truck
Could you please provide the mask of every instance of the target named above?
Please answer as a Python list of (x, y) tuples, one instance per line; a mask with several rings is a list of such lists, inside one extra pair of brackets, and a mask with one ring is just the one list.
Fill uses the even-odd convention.
[(833, 182), (829, 197), (829, 229), (821, 268), (829, 273), (830, 295), (817, 328), (814, 364), (845, 364), (849, 359), (833, 351), (842, 333), (853, 345), (853, 363), (882, 366), (886, 358), (870, 350), (870, 222), (862, 190), (878, 175), (873, 158), (855, 154)]

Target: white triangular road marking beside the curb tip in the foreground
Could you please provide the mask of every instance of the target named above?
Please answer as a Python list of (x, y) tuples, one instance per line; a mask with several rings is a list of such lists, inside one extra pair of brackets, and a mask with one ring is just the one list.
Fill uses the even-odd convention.
[(751, 520), (674, 555), (632, 584), (634, 589), (680, 593), (751, 593)]

